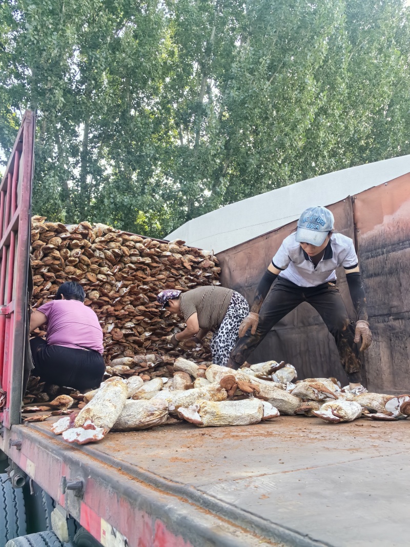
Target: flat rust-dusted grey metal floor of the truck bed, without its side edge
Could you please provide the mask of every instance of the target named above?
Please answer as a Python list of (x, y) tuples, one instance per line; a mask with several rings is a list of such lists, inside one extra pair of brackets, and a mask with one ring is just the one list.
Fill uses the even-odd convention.
[[(50, 425), (28, 428), (52, 435)], [(180, 423), (110, 433), (101, 443), (64, 450), (112, 465), (113, 480), (120, 468), (128, 480), (256, 532), (260, 544), (270, 538), (385, 547), (408, 537), (410, 421), (327, 424), (283, 416), (250, 427)]]

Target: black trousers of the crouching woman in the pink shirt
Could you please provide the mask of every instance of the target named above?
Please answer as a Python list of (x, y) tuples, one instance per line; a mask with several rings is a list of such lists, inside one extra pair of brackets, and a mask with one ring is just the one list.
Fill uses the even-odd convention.
[(47, 383), (78, 389), (98, 387), (106, 365), (101, 353), (65, 346), (48, 346), (37, 336), (30, 340), (34, 369), (31, 374)]

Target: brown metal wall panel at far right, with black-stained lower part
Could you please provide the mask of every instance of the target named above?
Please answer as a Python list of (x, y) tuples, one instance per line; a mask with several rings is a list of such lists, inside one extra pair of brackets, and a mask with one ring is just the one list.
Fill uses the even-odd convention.
[(373, 343), (368, 388), (410, 391), (410, 173), (358, 194), (354, 218)]

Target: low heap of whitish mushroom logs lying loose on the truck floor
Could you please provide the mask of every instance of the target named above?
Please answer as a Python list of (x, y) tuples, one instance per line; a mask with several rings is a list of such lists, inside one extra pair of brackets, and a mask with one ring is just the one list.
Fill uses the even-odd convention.
[(60, 404), (53, 414), (67, 416), (52, 424), (52, 431), (68, 443), (86, 444), (103, 439), (110, 430), (147, 429), (177, 421), (207, 427), (251, 425), (279, 415), (319, 417), (330, 423), (410, 415), (410, 395), (354, 395), (333, 378), (296, 381), (295, 367), (283, 362), (235, 371), (178, 358), (173, 369), (172, 378), (145, 382), (139, 376), (110, 377), (95, 391), (77, 397), (83, 399), (78, 413), (73, 409), (78, 400), (60, 396), (60, 401), (50, 403)]

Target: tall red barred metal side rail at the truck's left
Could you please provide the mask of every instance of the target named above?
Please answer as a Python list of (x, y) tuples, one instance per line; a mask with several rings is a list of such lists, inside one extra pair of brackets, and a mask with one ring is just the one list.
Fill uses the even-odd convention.
[(34, 125), (34, 113), (26, 110), (0, 185), (0, 422), (7, 428), (20, 423)]

